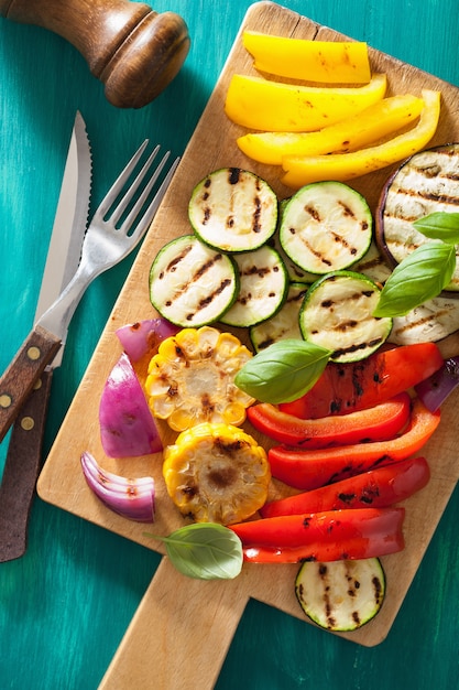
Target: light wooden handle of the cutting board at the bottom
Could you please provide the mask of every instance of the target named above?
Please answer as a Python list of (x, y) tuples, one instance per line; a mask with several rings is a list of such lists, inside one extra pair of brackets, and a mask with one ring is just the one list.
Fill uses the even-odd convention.
[(98, 690), (211, 690), (249, 601), (243, 580), (193, 580), (163, 557)]

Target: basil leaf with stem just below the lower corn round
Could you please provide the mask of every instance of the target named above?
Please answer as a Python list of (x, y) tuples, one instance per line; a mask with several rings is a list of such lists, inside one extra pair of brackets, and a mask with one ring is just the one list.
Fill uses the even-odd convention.
[(232, 580), (241, 572), (241, 540), (223, 525), (194, 522), (181, 527), (168, 537), (147, 536), (165, 543), (174, 567), (188, 578)]

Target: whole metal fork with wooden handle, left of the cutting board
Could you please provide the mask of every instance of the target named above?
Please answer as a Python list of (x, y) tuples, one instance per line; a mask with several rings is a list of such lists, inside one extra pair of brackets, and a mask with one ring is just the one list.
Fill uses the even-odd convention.
[[(153, 150), (133, 182), (125, 188), (121, 200), (118, 201), (135, 171), (147, 143), (149, 140), (145, 140), (134, 153), (96, 211), (85, 236), (81, 260), (75, 276), (53, 305), (35, 323), (13, 362), (0, 379), (0, 441), (14, 421), (15, 416), (44, 368), (54, 359), (62, 343), (65, 342), (69, 322), (86, 288), (97, 276), (100, 276), (100, 273), (127, 257), (138, 246), (150, 227), (179, 159), (175, 159), (172, 163), (145, 211), (143, 211), (143, 207), (147, 203), (150, 194), (170, 157), (170, 152), (164, 154), (152, 176), (140, 192), (160, 147)], [(132, 208), (128, 211), (138, 192), (140, 192), (138, 200), (133, 203)], [(111, 214), (108, 215), (113, 204), (116, 205)], [(125, 213), (127, 216), (122, 219)]]

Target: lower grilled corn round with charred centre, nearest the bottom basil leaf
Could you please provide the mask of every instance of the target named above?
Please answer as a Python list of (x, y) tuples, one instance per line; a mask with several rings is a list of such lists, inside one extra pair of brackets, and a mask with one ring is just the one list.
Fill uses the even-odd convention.
[(231, 525), (266, 500), (266, 453), (237, 427), (201, 423), (182, 432), (164, 451), (168, 495), (185, 517)]

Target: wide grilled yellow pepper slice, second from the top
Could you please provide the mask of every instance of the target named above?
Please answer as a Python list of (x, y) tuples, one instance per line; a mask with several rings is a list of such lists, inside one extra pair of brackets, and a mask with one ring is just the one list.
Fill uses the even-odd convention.
[(316, 131), (361, 112), (384, 98), (386, 75), (358, 87), (298, 86), (234, 74), (225, 111), (242, 127), (262, 131)]

